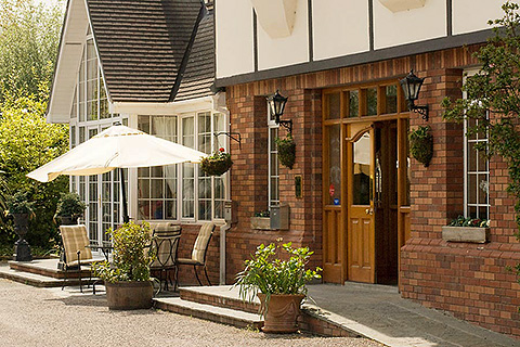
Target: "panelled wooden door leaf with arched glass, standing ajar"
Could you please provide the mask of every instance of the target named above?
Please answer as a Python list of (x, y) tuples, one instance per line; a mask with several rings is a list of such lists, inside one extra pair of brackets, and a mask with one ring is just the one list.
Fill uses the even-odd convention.
[(348, 280), (375, 282), (374, 127), (351, 124), (348, 144)]

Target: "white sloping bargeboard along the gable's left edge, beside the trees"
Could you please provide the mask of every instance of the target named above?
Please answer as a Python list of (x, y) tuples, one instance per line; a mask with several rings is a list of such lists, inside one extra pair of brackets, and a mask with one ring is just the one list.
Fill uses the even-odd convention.
[(89, 25), (82, 0), (69, 0), (65, 15), (47, 114), (49, 123), (69, 121), (82, 44)]

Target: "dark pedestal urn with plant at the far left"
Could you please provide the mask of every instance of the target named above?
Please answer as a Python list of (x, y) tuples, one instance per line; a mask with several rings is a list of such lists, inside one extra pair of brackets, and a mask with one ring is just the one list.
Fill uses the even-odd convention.
[(8, 198), (8, 214), (13, 218), (14, 231), (18, 235), (18, 241), (14, 244), (13, 259), (16, 261), (30, 261), (32, 255), (30, 246), (25, 240), (29, 229), (29, 218), (34, 215), (34, 202), (29, 202), (28, 193), (24, 191), (16, 192)]

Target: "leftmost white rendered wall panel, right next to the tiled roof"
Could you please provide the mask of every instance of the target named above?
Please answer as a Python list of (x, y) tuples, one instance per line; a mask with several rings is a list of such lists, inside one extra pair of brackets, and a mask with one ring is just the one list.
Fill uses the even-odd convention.
[(218, 0), (214, 14), (217, 78), (253, 72), (251, 2)]

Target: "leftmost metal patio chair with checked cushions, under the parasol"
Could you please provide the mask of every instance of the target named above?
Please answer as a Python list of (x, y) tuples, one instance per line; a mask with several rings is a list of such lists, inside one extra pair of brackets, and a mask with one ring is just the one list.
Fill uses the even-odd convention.
[[(92, 265), (93, 261), (100, 260), (92, 257), (92, 249), (90, 248), (89, 233), (87, 227), (79, 226), (60, 226), (60, 232), (62, 234), (63, 253), (64, 253), (64, 266), (63, 271), (65, 273), (62, 291), (68, 280), (68, 272), (74, 270), (78, 271), (79, 291), (83, 293), (81, 282), (81, 266)], [(92, 269), (90, 269), (90, 280), (92, 280)], [(91, 281), (89, 281), (90, 283)]]

